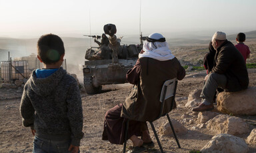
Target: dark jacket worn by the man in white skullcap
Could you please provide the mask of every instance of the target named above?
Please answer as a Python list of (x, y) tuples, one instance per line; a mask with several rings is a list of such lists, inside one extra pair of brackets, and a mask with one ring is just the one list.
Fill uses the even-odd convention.
[(248, 87), (249, 77), (245, 61), (233, 43), (226, 40), (217, 49), (214, 60), (211, 73), (227, 76), (226, 91), (235, 92)]

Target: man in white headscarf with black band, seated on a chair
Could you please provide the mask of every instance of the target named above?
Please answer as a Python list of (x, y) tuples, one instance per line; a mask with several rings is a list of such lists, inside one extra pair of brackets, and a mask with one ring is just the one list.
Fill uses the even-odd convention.
[[(146, 121), (153, 121), (160, 114), (159, 99), (163, 82), (173, 78), (183, 79), (185, 69), (171, 53), (165, 37), (153, 33), (147, 37), (137, 63), (126, 76), (134, 86), (123, 104), (107, 111), (103, 140), (109, 140), (113, 144), (123, 144), (125, 121), (129, 118), (128, 138), (133, 142), (132, 152), (143, 152), (146, 148), (154, 146)], [(171, 106), (171, 99), (165, 100), (167, 103), (163, 114), (175, 108)]]

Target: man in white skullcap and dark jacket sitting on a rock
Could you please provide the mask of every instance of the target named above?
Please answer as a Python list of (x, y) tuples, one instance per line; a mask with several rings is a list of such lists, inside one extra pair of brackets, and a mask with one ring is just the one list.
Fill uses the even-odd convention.
[(193, 108), (195, 112), (214, 109), (213, 98), (218, 87), (228, 92), (235, 92), (247, 88), (249, 84), (243, 56), (233, 43), (227, 41), (226, 34), (217, 31), (211, 42), (216, 50), (213, 69), (205, 76), (205, 84), (200, 95), (202, 102)]

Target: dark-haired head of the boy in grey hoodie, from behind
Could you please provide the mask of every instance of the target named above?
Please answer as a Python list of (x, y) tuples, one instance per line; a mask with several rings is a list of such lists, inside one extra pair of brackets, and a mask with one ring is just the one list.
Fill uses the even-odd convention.
[(42, 35), (37, 41), (37, 54), (45, 64), (54, 64), (65, 53), (64, 44), (57, 35)]

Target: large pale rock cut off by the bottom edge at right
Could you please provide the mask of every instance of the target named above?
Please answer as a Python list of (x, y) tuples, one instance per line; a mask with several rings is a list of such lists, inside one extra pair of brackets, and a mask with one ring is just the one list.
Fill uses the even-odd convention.
[(211, 138), (211, 140), (201, 149), (202, 153), (246, 153), (248, 151), (249, 147), (245, 143), (245, 140), (229, 134), (218, 134), (213, 136), (213, 138)]

